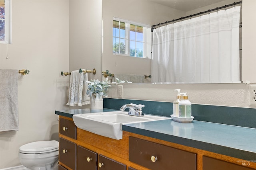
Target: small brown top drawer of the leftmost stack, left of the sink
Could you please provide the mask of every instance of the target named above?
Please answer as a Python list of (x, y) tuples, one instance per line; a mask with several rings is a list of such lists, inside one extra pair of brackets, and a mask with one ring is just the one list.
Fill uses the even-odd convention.
[(62, 135), (76, 139), (76, 125), (73, 121), (60, 118), (59, 129)]

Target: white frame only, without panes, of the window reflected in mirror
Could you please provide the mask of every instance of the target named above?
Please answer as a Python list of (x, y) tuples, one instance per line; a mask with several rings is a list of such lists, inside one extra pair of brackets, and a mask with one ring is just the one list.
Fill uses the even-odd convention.
[[(124, 20), (124, 19), (120, 19), (120, 18), (116, 18), (116, 17), (113, 17), (113, 20), (124, 22), (125, 28), (126, 28), (125, 29), (125, 42), (126, 42), (125, 54), (120, 54), (120, 53), (113, 53), (113, 54), (133, 57), (133, 56), (130, 56), (130, 24), (132, 24), (132, 25), (138, 25), (138, 26), (143, 27), (143, 43), (144, 43), (143, 58), (151, 58), (151, 57), (148, 57), (148, 49), (150, 49), (150, 45), (151, 45), (151, 42), (148, 42), (148, 41), (150, 41), (150, 38), (148, 38), (148, 35), (150, 35), (150, 33), (148, 33), (148, 32), (151, 32), (150, 25), (143, 24), (143, 23), (137, 23), (134, 21), (128, 21), (128, 20)], [(138, 41), (138, 42), (141, 42), (141, 41)], [(112, 42), (112, 44), (113, 44), (113, 42)], [(136, 56), (134, 56), (134, 57), (136, 57)], [(142, 58), (142, 57), (138, 57), (138, 58)]]

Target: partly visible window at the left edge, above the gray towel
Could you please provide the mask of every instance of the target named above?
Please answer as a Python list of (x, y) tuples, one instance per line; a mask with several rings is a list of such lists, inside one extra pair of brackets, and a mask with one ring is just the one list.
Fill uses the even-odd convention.
[(0, 0), (0, 43), (10, 43), (10, 0)]

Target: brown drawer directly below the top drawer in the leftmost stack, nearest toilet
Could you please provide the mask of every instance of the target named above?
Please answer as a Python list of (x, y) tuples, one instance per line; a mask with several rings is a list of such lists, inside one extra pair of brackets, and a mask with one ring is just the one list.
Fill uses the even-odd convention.
[(71, 168), (76, 169), (76, 144), (66, 139), (60, 138), (59, 141), (59, 159), (60, 162)]

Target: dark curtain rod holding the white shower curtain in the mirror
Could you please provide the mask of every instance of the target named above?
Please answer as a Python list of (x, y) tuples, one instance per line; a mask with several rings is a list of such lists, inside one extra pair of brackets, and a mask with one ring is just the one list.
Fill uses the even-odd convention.
[(240, 2), (234, 2), (233, 4), (229, 4), (229, 5), (225, 5), (225, 6), (221, 6), (221, 7), (217, 7), (217, 8), (214, 8), (212, 10), (207, 10), (207, 11), (204, 11), (204, 12), (199, 12), (197, 14), (193, 14), (193, 15), (190, 15), (190, 16), (186, 16), (186, 17), (182, 17), (182, 18), (178, 18), (176, 20), (172, 20), (172, 21), (166, 21), (166, 22), (163, 22), (163, 23), (158, 23), (156, 25), (152, 25), (151, 26), (151, 31), (153, 31), (153, 29), (155, 29), (156, 26), (160, 26), (160, 25), (164, 25), (164, 24), (167, 24), (167, 23), (170, 23), (170, 22), (175, 22), (175, 21), (179, 21), (179, 20), (184, 20), (186, 18), (192, 18), (194, 16), (198, 16), (198, 15), (202, 15), (202, 14), (205, 14), (205, 13), (210, 13), (212, 11), (217, 11), (217, 10), (220, 10), (222, 8), (227, 8), (227, 7), (230, 7), (230, 6), (235, 6), (237, 4), (242, 4), (242, 1)]

